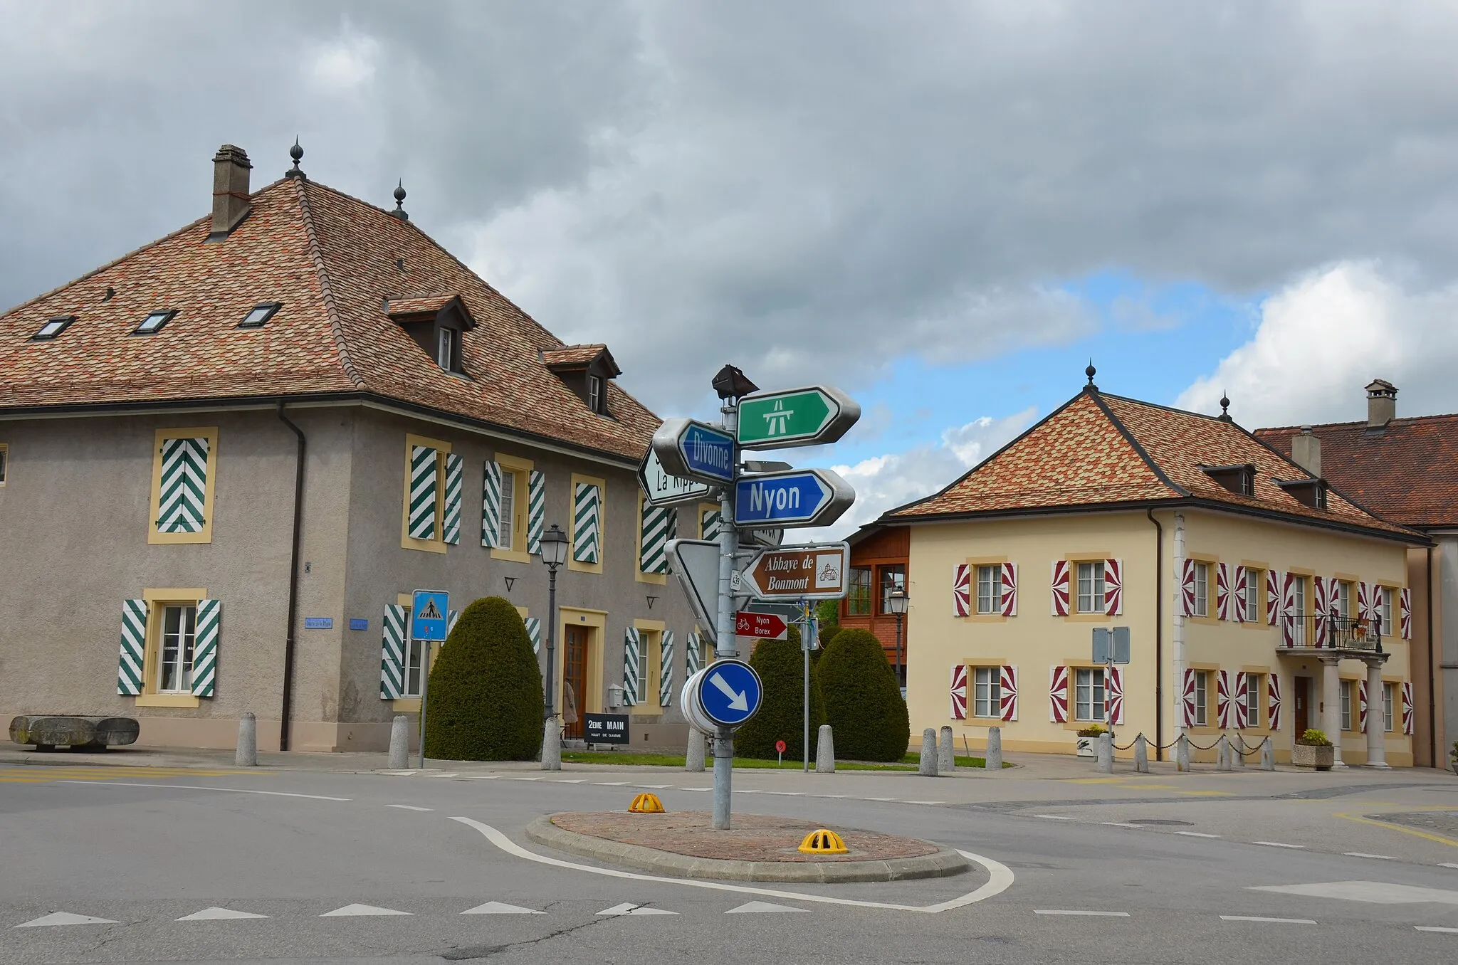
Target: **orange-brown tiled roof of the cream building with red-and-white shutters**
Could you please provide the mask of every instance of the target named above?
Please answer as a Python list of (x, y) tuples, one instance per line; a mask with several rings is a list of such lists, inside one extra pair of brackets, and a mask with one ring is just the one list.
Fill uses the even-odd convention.
[[(1226, 490), (1201, 468), (1242, 464), (1255, 466), (1251, 496)], [(1276, 485), (1306, 478), (1235, 423), (1085, 391), (948, 488), (882, 520), (1196, 501), (1417, 538), (1340, 493), (1328, 493), (1321, 510)]]

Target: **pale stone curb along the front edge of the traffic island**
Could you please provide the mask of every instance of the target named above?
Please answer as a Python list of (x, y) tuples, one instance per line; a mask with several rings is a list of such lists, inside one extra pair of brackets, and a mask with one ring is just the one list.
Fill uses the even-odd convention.
[(542, 815), (526, 825), (526, 837), (558, 851), (592, 857), (612, 864), (625, 864), (644, 872), (674, 878), (701, 878), (730, 882), (894, 882), (911, 878), (948, 878), (971, 869), (971, 862), (948, 848), (919, 857), (895, 857), (879, 862), (732, 862), (693, 857), (660, 851), (639, 844), (624, 844), (595, 838), (558, 828), (551, 815)]

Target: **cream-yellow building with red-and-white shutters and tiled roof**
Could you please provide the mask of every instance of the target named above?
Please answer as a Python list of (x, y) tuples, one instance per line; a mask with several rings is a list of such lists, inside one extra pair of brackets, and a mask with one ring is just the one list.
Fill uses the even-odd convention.
[[(1346, 764), (1411, 765), (1407, 548), (1247, 430), (1094, 385), (940, 493), (910, 531), (913, 733), (1069, 754), (1102, 722), (1277, 761), (1305, 727)], [(1127, 627), (1130, 662), (1092, 660)], [(1340, 733), (1340, 741), (1337, 739)], [(1169, 755), (1163, 751), (1163, 755)], [(1196, 759), (1213, 759), (1196, 751)]]

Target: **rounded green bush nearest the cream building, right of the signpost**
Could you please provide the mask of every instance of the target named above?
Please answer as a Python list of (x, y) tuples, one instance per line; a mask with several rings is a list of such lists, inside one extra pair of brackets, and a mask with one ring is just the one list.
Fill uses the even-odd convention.
[(881, 641), (865, 630), (841, 630), (815, 669), (835, 757), (900, 761), (911, 742), (907, 704)]

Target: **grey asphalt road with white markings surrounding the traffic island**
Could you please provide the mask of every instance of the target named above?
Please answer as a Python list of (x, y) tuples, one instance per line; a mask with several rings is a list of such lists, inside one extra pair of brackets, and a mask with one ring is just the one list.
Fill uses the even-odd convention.
[[(703, 809), (709, 794), (684, 790), (709, 784), (698, 774), (9, 773), (19, 777), (0, 774), (3, 962), (1458, 961), (1458, 847), (1365, 822), (1337, 822), (1352, 832), (1340, 841), (1302, 840), (1331, 824), (1303, 816), (1309, 800), (1131, 794), (984, 809), (907, 803), (935, 787), (914, 775), (859, 786), (905, 789), (898, 800), (796, 796), (827, 786), (814, 775), (745, 778), (763, 793), (738, 794), (741, 810), (910, 834), (987, 863), (926, 882), (704, 888), (602, 875), (570, 856), (551, 856), (570, 867), (544, 864), (477, 827), (547, 854), (522, 835), (532, 818), (621, 809), (636, 793), (599, 781), (668, 784), (655, 792), (669, 809)], [(1376, 789), (1352, 806), (1411, 808), (1392, 799), (1426, 793), (1441, 813), (1458, 810), (1454, 790)], [(1322, 813), (1343, 806), (1318, 800)], [(875, 907), (954, 902), (997, 866), (1012, 883), (974, 904)], [(486, 914), (487, 902), (539, 914)], [(262, 917), (195, 917), (216, 910)], [(108, 921), (44, 923), (55, 914)]]

